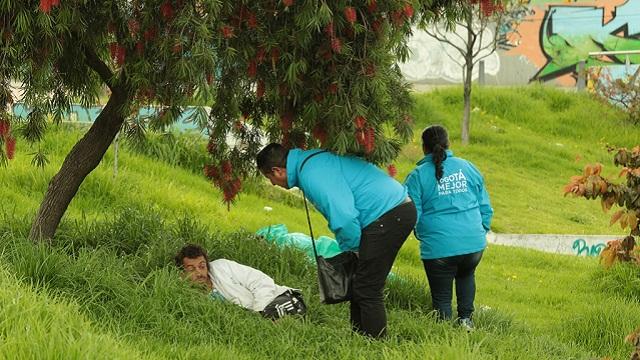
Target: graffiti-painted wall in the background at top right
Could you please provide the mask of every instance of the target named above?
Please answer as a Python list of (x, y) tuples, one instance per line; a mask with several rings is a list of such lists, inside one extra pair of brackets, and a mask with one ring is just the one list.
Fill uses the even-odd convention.
[[(575, 86), (577, 64), (587, 67), (640, 64), (640, 54), (589, 56), (590, 52), (640, 50), (640, 0), (529, 0), (506, 50), (485, 59), (487, 84), (532, 81)], [(460, 31), (460, 30), (458, 30)], [(508, 31), (508, 29), (497, 29)], [(452, 34), (457, 37), (462, 34)], [(504, 46), (506, 45), (506, 46)], [(415, 83), (459, 83), (460, 55), (424, 31), (411, 39), (411, 59), (401, 65)], [(474, 79), (477, 79), (477, 69)]]

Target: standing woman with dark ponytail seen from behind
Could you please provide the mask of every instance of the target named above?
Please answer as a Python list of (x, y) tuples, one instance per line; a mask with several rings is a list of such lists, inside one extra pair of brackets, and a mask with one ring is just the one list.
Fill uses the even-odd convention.
[(493, 209), (482, 174), (469, 161), (453, 156), (444, 127), (424, 130), (422, 150), (425, 157), (405, 184), (418, 212), (415, 234), (431, 300), (438, 317), (450, 319), (455, 279), (458, 321), (471, 330), (474, 274), (487, 246)]

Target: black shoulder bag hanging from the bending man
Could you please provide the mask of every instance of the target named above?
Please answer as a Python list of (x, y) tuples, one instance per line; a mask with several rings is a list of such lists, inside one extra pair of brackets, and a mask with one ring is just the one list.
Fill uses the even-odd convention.
[[(300, 165), (299, 173), (306, 162), (321, 153), (318, 151), (309, 155)], [(302, 190), (302, 189), (300, 189)], [(309, 224), (309, 235), (313, 245), (313, 254), (318, 265), (318, 286), (320, 288), (320, 301), (323, 304), (338, 304), (351, 300), (351, 282), (358, 265), (358, 256), (353, 251), (345, 251), (334, 257), (325, 258), (318, 256), (316, 250), (316, 241), (313, 236), (311, 227), (311, 217), (309, 216), (309, 207), (307, 205), (307, 197), (302, 190), (302, 198), (304, 199), (304, 210), (307, 213), (307, 222)]]

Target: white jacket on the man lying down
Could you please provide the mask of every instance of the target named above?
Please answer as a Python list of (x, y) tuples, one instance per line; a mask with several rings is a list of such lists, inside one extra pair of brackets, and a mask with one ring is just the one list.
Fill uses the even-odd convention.
[(214, 289), (217, 289), (225, 300), (245, 309), (262, 311), (285, 291), (295, 290), (277, 285), (262, 271), (235, 261), (218, 259), (209, 265), (209, 277)]

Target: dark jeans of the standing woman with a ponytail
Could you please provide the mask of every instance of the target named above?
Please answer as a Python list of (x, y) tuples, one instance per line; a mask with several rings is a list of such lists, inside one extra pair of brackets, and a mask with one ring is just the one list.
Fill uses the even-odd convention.
[(440, 259), (422, 260), (431, 288), (433, 308), (440, 319), (451, 319), (451, 297), (453, 280), (456, 280), (458, 317), (471, 318), (476, 297), (476, 267), (482, 259), (482, 251), (450, 256)]

